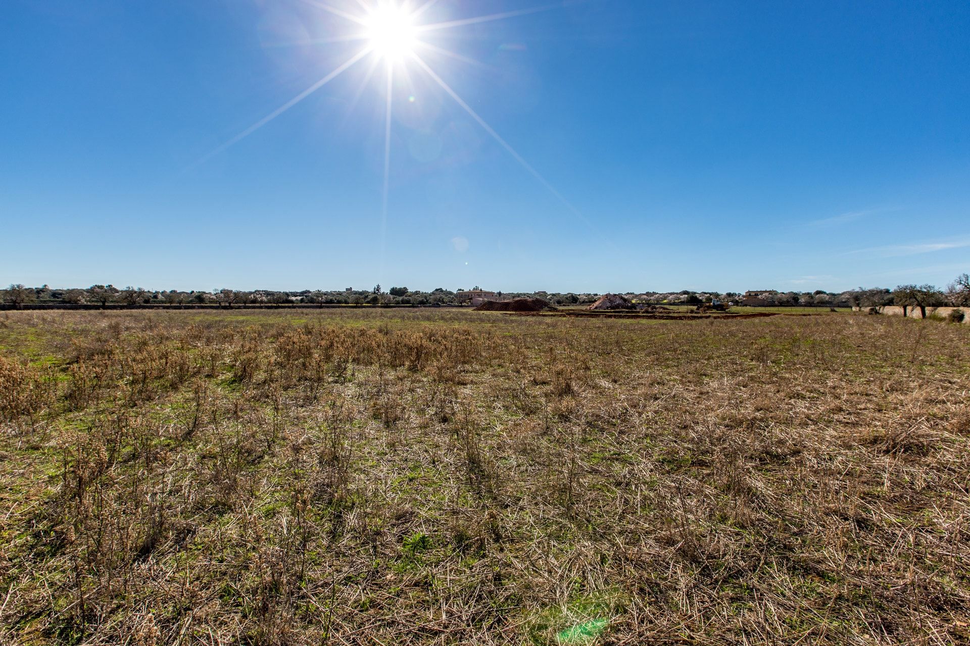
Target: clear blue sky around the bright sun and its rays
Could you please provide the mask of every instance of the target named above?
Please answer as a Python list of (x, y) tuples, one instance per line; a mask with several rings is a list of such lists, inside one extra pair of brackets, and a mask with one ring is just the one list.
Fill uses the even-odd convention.
[(417, 50), (518, 158), (396, 68), (385, 225), (375, 55), (220, 148), (357, 52), (354, 22), (305, 0), (7, 0), (0, 282), (838, 291), (970, 271), (970, 4), (546, 6)]

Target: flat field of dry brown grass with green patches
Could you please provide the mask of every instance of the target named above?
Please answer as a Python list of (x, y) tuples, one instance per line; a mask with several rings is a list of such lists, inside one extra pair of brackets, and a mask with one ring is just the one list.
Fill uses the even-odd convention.
[(970, 329), (0, 314), (0, 642), (970, 642)]

